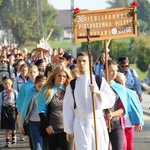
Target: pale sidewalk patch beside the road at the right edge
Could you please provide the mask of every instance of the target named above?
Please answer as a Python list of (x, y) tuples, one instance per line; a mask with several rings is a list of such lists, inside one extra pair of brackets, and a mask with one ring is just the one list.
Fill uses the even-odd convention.
[(149, 107), (150, 107), (150, 95), (143, 93), (142, 97), (143, 97), (143, 101), (142, 101), (141, 105), (143, 108), (143, 113), (144, 113), (144, 115), (150, 116), (150, 109), (149, 109)]

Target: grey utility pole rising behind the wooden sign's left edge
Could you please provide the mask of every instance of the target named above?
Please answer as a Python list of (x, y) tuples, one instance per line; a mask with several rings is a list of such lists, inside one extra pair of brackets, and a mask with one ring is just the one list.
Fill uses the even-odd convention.
[(77, 48), (76, 44), (74, 42), (74, 27), (72, 25), (73, 22), (73, 16), (72, 16), (72, 10), (74, 9), (74, 0), (70, 0), (71, 3), (71, 39), (72, 39), (72, 55), (76, 58), (77, 56)]

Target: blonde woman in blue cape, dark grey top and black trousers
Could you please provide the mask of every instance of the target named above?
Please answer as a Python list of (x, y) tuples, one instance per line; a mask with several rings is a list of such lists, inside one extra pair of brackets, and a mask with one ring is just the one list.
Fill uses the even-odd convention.
[(63, 127), (63, 98), (70, 80), (70, 70), (64, 65), (56, 66), (36, 98), (41, 134), (51, 150), (70, 150)]

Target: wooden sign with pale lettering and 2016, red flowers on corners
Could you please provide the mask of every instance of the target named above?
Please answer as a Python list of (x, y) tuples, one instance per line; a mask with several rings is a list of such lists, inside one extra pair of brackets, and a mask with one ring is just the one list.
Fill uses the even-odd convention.
[(77, 13), (73, 19), (75, 42), (127, 38), (137, 36), (136, 8), (115, 8)]

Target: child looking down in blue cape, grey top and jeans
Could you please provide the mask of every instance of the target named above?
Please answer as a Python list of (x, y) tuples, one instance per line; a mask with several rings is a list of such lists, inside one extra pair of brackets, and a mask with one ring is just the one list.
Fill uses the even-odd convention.
[[(43, 138), (40, 136), (39, 128), (40, 128), (40, 117), (37, 112), (37, 106), (35, 103), (36, 96), (38, 92), (41, 90), (42, 86), (46, 82), (46, 77), (43, 75), (38, 75), (35, 79), (34, 87), (31, 88), (25, 97), (25, 101), (23, 103), (23, 107), (20, 113), (20, 125), (19, 131), (20, 134), (24, 134), (23, 122), (24, 120), (29, 124), (29, 133), (33, 144), (33, 150), (42, 150)], [(46, 148), (43, 148), (46, 150)]]

